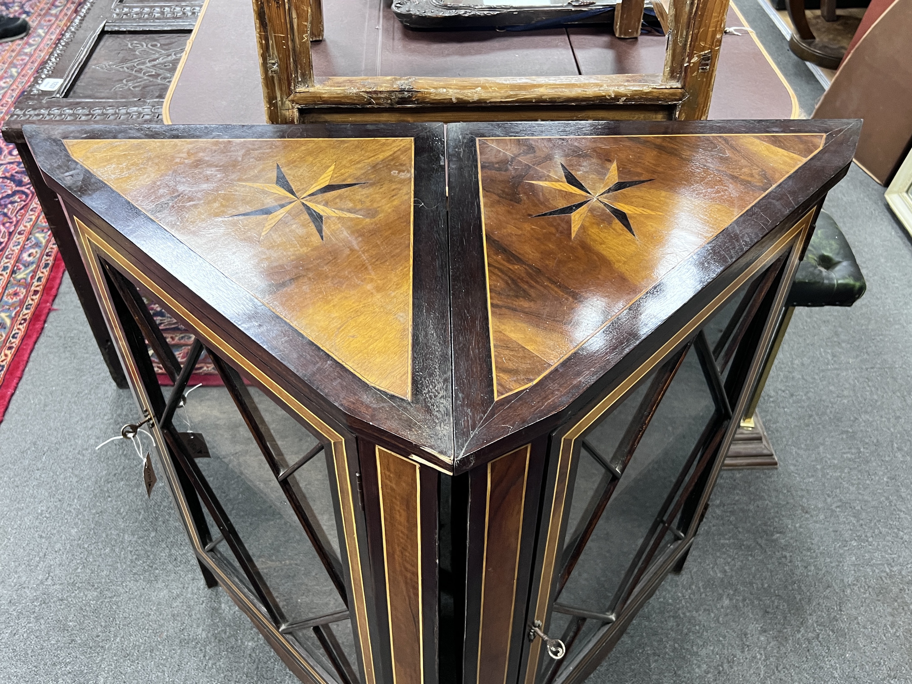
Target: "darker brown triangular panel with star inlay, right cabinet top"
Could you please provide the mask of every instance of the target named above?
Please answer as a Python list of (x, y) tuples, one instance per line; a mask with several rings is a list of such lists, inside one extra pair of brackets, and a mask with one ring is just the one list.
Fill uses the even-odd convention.
[(495, 398), (555, 368), (823, 144), (819, 133), (477, 140)]

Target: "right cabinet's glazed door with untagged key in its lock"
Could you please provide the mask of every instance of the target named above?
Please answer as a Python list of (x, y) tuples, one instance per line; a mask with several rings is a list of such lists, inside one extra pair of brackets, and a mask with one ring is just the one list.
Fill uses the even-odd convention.
[[(525, 684), (585, 679), (684, 565), (814, 210), (551, 442)], [(663, 350), (659, 350), (662, 352)]]

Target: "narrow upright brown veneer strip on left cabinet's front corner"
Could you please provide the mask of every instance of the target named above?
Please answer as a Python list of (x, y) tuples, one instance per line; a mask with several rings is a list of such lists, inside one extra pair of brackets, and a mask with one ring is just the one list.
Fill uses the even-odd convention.
[(377, 475), (393, 682), (421, 684), (420, 466), (377, 447)]

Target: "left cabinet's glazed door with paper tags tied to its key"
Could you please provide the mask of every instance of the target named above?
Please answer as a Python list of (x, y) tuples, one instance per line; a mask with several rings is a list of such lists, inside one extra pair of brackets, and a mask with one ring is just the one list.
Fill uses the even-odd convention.
[(140, 407), (130, 439), (158, 452), (148, 467), (171, 488), (207, 586), (302, 680), (373, 684), (354, 438), (66, 210)]

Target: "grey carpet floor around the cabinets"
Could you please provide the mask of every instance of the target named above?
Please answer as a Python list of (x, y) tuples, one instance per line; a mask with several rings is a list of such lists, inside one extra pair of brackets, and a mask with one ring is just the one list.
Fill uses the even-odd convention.
[[(810, 72), (755, 0), (739, 9), (811, 111)], [(868, 292), (795, 314), (760, 409), (782, 465), (722, 473), (683, 574), (592, 682), (912, 681), (912, 245), (856, 168), (826, 208)], [(95, 451), (136, 409), (66, 278), (55, 306), (0, 424), (0, 681), (296, 681), (204, 588), (136, 454)]]

